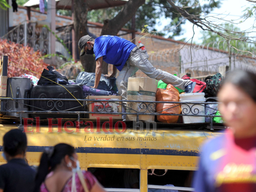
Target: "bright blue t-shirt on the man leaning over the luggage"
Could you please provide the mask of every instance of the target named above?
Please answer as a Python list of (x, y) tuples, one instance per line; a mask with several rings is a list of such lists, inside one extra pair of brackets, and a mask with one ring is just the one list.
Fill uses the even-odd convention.
[(103, 35), (95, 39), (93, 52), (95, 60), (103, 56), (103, 61), (121, 71), (134, 47), (136, 45), (121, 37)]

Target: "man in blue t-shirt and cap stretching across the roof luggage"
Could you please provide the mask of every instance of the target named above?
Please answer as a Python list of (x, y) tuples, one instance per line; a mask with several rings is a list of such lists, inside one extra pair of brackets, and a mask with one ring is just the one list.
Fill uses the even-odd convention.
[(115, 77), (117, 69), (120, 71), (116, 84), (122, 100), (127, 100), (128, 78), (139, 69), (150, 78), (162, 80), (166, 84), (172, 84), (186, 93), (192, 93), (195, 88), (195, 82), (181, 79), (153, 67), (147, 60), (148, 54), (146, 50), (139, 49), (138, 46), (121, 37), (103, 35), (94, 39), (89, 35), (85, 35), (80, 38), (78, 47), (81, 50), (80, 56), (83, 56), (85, 53), (89, 55), (95, 54), (96, 71), (93, 88), (98, 87), (102, 71), (102, 61), (113, 65), (113, 73), (105, 76)]

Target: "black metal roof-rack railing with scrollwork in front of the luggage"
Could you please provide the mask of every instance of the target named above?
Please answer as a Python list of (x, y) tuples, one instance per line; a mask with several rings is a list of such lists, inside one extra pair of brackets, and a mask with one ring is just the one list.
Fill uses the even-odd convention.
[[(81, 114), (99, 114), (99, 115), (135, 115), (136, 121), (139, 121), (139, 115), (150, 115), (150, 116), (190, 116), (190, 117), (206, 117), (210, 118), (211, 130), (213, 130), (213, 118), (222, 117), (216, 116), (215, 114), (209, 115), (199, 115), (198, 106), (204, 106), (217, 112), (216, 108), (211, 108), (209, 104), (219, 104), (217, 102), (164, 102), (164, 101), (132, 101), (132, 100), (95, 100), (95, 99), (49, 99), (49, 98), (1, 98), (3, 101), (3, 107), (1, 107), (0, 113), (16, 113), (20, 114), (20, 122), (22, 123), (23, 114), (74, 114), (77, 115), (77, 120), (80, 121)], [(37, 101), (37, 102), (36, 102)], [(32, 103), (32, 104), (29, 104)], [(67, 102), (72, 102), (72, 107), (65, 107)], [(75, 103), (74, 103), (75, 102)], [(136, 103), (137, 107), (135, 110), (131, 106), (126, 106), (125, 103)], [(27, 106), (30, 110), (27, 111), (17, 111), (14, 110), (14, 104), (21, 104)], [(96, 112), (89, 112), (85, 109), (93, 103), (98, 103), (94, 109)], [(157, 111), (156, 105), (160, 103), (170, 104), (171, 106), (168, 109)], [(122, 113), (115, 108), (117, 106), (126, 107), (130, 113)], [(169, 114), (161, 112), (166, 112), (175, 107), (182, 106), (181, 114)], [(81, 109), (82, 108), (82, 109)], [(32, 110), (31, 110), (32, 109)], [(79, 109), (79, 111), (76, 109)]]

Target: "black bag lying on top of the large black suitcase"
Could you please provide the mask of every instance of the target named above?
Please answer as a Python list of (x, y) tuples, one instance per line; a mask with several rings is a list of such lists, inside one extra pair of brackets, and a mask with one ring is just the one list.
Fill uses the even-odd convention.
[[(44, 69), (37, 85), (51, 85), (59, 83), (61, 85), (68, 85), (68, 79), (65, 75), (57, 72), (53, 67), (48, 66), (46, 70)], [(50, 80), (49, 80), (50, 79)]]

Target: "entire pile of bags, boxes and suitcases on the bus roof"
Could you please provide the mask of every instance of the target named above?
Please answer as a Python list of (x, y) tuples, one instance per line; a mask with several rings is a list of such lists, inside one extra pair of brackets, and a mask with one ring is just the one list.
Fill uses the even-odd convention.
[[(184, 75), (182, 79), (190, 78)], [(127, 102), (126, 113), (141, 114), (138, 117), (137, 115), (128, 114), (126, 115), (126, 120), (136, 120), (138, 118), (138, 120), (156, 120), (164, 123), (210, 122), (212, 117), (205, 118), (200, 115), (220, 115), (218, 104), (213, 104), (212, 102), (218, 102), (216, 96), (223, 79), (224, 77), (220, 73), (206, 77), (205, 82), (190, 79), (196, 82), (196, 86), (193, 93), (185, 94), (178, 87), (174, 87), (171, 84), (167, 85), (163, 81), (158, 82), (156, 79), (151, 78), (129, 77), (127, 100), (130, 102)], [(7, 79), (6, 96), (13, 98), (13, 100), (6, 100), (5, 109), (7, 111), (33, 111), (30, 115), (22, 113), (23, 118), (76, 119), (77, 113), (69, 112), (87, 111), (95, 112), (95, 114), (85, 116), (84, 113), (81, 113), (80, 117), (89, 119), (100, 117), (102, 120), (109, 120), (112, 117), (113, 119), (121, 120), (121, 114), (106, 114), (106, 112), (122, 112), (122, 99), (118, 94), (116, 78), (106, 78), (102, 74), (97, 89), (93, 88), (94, 82), (95, 73), (80, 72), (76, 79), (69, 80), (51, 66), (43, 70), (40, 79), (29, 74), (11, 77)], [(22, 100), (23, 98), (30, 98), (30, 100)], [(95, 102), (95, 100), (101, 101)], [(111, 102), (112, 100), (120, 100), (120, 102)], [(169, 103), (154, 103), (155, 101)], [(184, 104), (186, 102), (187, 104)], [(200, 104), (205, 102), (209, 104)], [(155, 113), (175, 115), (157, 115), (155, 117)], [(183, 114), (183, 116), (181, 118), (176, 114)], [(20, 116), (16, 112), (9, 112), (6, 115)], [(212, 121), (223, 123), (220, 117), (214, 117)]]

